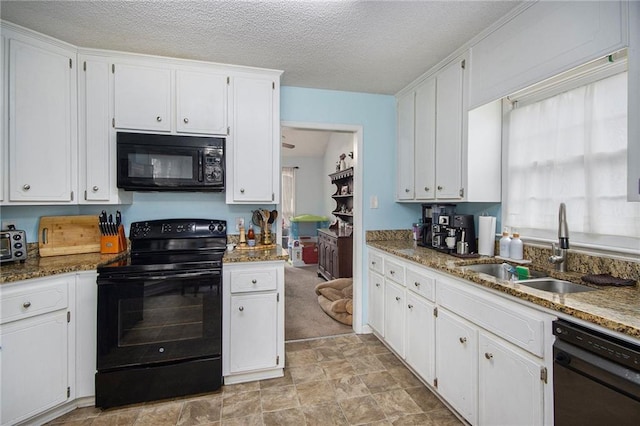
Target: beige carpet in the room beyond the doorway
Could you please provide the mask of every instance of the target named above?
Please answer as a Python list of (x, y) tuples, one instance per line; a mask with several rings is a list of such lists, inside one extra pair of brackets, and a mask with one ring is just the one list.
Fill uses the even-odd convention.
[(317, 274), (318, 265), (284, 268), (284, 338), (286, 341), (352, 333), (327, 315), (318, 304), (315, 286), (324, 282)]

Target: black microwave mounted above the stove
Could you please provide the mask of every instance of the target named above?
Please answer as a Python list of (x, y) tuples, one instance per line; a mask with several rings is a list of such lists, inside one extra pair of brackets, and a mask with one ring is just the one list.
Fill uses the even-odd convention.
[(118, 188), (224, 191), (224, 138), (118, 132), (116, 143)]

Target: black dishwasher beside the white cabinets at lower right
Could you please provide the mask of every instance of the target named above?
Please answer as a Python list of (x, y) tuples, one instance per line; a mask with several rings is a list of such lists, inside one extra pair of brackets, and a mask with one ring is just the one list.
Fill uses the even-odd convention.
[(553, 322), (555, 426), (640, 424), (640, 345)]

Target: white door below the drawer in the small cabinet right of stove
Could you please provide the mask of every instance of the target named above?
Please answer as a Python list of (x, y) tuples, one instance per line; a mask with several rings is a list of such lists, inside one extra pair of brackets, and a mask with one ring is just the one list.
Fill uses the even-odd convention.
[(231, 296), (230, 372), (275, 368), (278, 365), (278, 295)]

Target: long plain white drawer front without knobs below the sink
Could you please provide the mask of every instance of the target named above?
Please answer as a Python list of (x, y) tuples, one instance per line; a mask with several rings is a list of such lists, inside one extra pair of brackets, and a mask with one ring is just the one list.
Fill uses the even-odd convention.
[(539, 357), (544, 356), (544, 321), (538, 314), (506, 299), (493, 300), (446, 281), (438, 286), (437, 302), (450, 311)]

